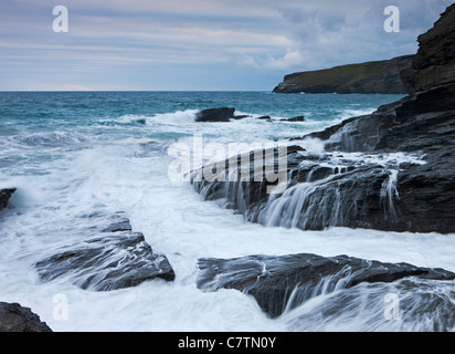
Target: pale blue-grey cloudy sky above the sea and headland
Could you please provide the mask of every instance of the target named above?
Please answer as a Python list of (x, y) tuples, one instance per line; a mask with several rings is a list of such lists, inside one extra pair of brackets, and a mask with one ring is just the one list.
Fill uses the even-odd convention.
[(453, 1), (1, 0), (0, 91), (269, 91), (292, 72), (413, 54)]

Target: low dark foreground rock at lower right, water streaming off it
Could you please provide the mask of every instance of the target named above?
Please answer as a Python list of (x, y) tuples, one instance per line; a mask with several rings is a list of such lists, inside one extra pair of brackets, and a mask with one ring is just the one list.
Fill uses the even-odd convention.
[(198, 288), (203, 291), (235, 289), (254, 296), (272, 317), (320, 294), (361, 283), (391, 283), (403, 279), (449, 281), (455, 273), (408, 263), (383, 263), (348, 256), (248, 256), (200, 259)]

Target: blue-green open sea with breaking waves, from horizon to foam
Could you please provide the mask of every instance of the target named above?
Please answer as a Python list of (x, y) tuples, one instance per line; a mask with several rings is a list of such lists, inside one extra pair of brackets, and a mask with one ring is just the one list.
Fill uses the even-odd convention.
[[(43, 162), (66, 152), (125, 138), (156, 138), (166, 146), (182, 136), (251, 142), (300, 136), (343, 118), (372, 112), (396, 95), (278, 95), (268, 92), (30, 92), (0, 93), (1, 176), (50, 173)], [(198, 110), (229, 106), (236, 114), (290, 118), (275, 124), (250, 119), (225, 125), (194, 124)], [(3, 184), (7, 184), (4, 181)]]

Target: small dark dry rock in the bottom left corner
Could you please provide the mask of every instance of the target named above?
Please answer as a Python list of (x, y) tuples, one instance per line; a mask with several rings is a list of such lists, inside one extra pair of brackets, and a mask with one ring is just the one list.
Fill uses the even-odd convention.
[(52, 332), (40, 316), (19, 303), (0, 302), (0, 332)]

